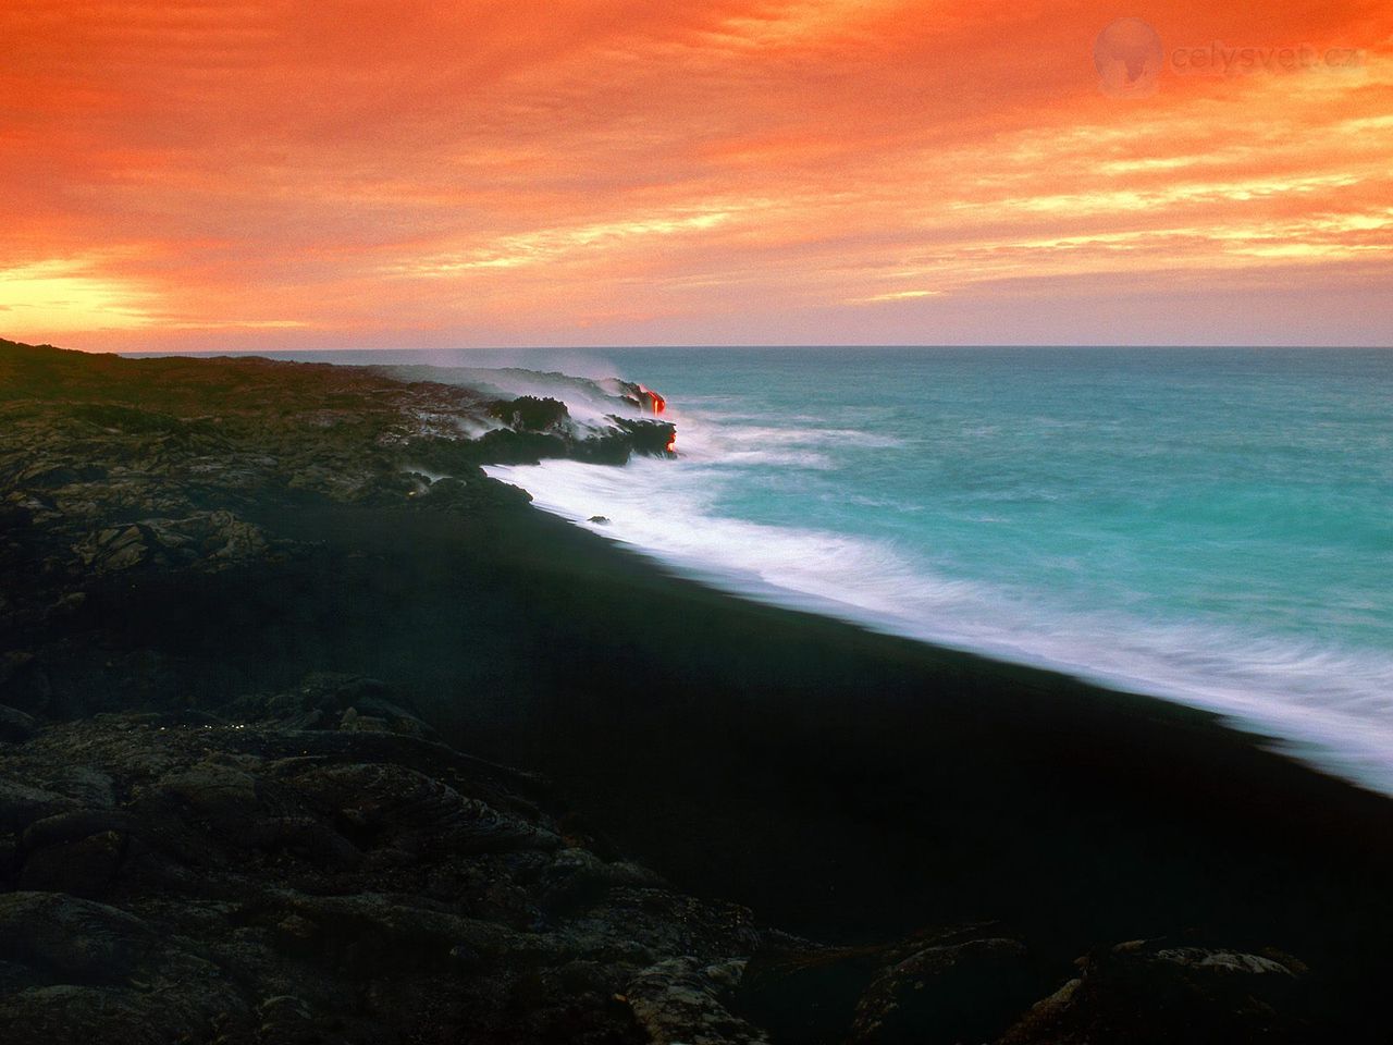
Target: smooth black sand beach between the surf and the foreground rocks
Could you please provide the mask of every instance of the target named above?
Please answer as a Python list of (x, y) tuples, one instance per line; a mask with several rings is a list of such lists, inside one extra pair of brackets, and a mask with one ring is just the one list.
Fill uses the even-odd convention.
[(1290, 954), (1312, 1041), (1386, 1039), (1393, 804), (1209, 715), (742, 602), (506, 496), (238, 510), (298, 550), (89, 578), (47, 716), (371, 676), (549, 776), (598, 851), (765, 924), (990, 922), (1053, 984), (1127, 940)]

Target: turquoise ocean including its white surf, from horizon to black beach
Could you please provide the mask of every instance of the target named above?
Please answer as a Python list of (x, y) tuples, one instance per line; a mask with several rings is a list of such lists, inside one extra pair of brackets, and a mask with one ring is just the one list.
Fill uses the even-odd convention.
[(333, 355), (644, 382), (677, 460), (490, 474), (733, 592), (1212, 709), (1393, 794), (1393, 351)]

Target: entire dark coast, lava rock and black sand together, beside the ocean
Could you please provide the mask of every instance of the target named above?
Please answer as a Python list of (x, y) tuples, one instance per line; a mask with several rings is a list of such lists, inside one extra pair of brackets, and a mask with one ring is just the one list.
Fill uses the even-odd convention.
[(1386, 1039), (1390, 803), (669, 577), (479, 470), (656, 393), (417, 376), (0, 341), (0, 1039)]

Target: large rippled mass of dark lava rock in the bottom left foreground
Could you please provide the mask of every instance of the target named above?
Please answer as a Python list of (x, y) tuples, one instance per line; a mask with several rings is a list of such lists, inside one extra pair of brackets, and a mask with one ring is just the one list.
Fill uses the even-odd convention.
[[(396, 708), (316, 677), (240, 709), (330, 695)], [(39, 727), (0, 764), (0, 1039), (761, 1041), (724, 1007), (749, 913), (596, 856), (549, 804), (408, 733)]]

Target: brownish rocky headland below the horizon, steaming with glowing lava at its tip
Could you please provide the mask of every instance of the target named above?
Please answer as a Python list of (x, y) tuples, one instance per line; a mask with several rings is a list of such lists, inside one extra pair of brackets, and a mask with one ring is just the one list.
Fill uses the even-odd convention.
[(525, 496), (481, 464), (621, 464), (666, 454), (674, 432), (617, 414), (577, 425), (556, 398), (497, 400), (371, 368), (0, 341), (0, 566), (39, 527), (50, 546), (31, 553), (89, 575), (216, 570), (280, 550), (249, 509), (320, 499), (472, 511)]

